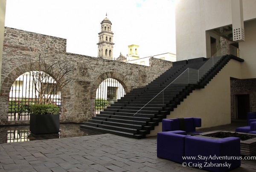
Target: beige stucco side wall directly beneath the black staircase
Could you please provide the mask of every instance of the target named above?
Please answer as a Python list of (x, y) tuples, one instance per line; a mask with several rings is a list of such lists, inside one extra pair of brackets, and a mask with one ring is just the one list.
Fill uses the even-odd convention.
[[(202, 128), (230, 123), (230, 77), (241, 78), (240, 62), (230, 60), (204, 89), (194, 90), (167, 118), (201, 118)], [(150, 135), (161, 131), (159, 123)]]

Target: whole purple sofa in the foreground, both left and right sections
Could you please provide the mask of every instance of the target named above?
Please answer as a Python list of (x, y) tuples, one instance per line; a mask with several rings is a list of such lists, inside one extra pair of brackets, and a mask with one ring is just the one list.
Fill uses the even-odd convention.
[[(195, 160), (184, 160), (184, 157), (196, 157)], [(212, 157), (205, 160), (202, 157)], [(186, 162), (187, 166), (198, 167), (212, 172), (225, 172), (241, 165), (240, 159), (230, 157), (240, 157), (240, 138), (201, 138), (198, 136), (188, 136), (184, 131), (170, 131), (157, 133), (157, 157), (175, 161), (177, 163)], [(214, 159), (215, 157), (215, 159)], [(217, 158), (218, 159), (217, 159)], [(219, 159), (222, 157), (222, 159)], [(223, 158), (229, 157), (229, 158)], [(204, 166), (211, 164), (231, 164), (230, 168)], [(201, 164), (201, 166), (200, 166)], [(186, 168), (186, 167), (184, 167)]]

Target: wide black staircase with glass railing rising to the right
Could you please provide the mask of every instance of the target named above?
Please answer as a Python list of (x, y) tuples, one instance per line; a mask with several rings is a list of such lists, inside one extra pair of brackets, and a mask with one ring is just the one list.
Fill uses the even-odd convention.
[(80, 129), (145, 138), (194, 89), (204, 88), (232, 57), (201, 57), (174, 62), (147, 86), (133, 89), (82, 124)]

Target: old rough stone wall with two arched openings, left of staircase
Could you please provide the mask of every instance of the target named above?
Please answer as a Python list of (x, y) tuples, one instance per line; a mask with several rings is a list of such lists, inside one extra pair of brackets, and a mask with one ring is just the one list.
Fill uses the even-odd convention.
[[(13, 37), (15, 33), (17, 33), (17, 37), (6, 40), (6, 38)], [(61, 42), (63, 44), (66, 43), (64, 39), (35, 33), (31, 33), (31, 36), (34, 35), (33, 37), (38, 38), (32, 39), (35, 41), (35, 44), (29, 42), (30, 38), (27, 38), (28, 40), (23, 43), (21, 40), (26, 40), (26, 37), (30, 35), (29, 33), (6, 28), (0, 90), (0, 124), (2, 125), (29, 123), (29, 121), (8, 121), (8, 97), (12, 83), (14, 83), (16, 78), (29, 71), (29, 59), (36, 60), (39, 58), (39, 55), (45, 56), (46, 63), (48, 64), (51, 64), (54, 59), (60, 59), (67, 61), (75, 69), (66, 76), (73, 78), (74, 82), (61, 89), (63, 107), (61, 122), (81, 123), (90, 119), (94, 115), (93, 106), (96, 89), (103, 80), (109, 77), (114, 78), (122, 83), (126, 92), (130, 92), (133, 88), (147, 85), (147, 83), (150, 83), (172, 66), (172, 62), (161, 60), (161, 63), (159, 63), (158, 59), (152, 59), (151, 67), (148, 67), (64, 53), (62, 51), (64, 48), (61, 46)], [(48, 41), (44, 42), (39, 39), (42, 37), (49, 39), (49, 42), (59, 41), (57, 41), (57, 45), (53, 44), (53, 47), (51, 47)], [(40, 44), (42, 45), (40, 46)], [(45, 47), (48, 47), (48, 49), (45, 49)], [(59, 51), (57, 47), (59, 47)], [(49, 53), (49, 51), (53, 52)], [(58, 71), (58, 69), (56, 70)]]

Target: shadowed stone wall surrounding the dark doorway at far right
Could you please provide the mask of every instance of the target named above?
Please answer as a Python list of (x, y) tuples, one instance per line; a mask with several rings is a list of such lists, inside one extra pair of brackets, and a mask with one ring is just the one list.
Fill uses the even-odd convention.
[(256, 79), (230, 80), (231, 119), (236, 119), (236, 95), (250, 96), (250, 112), (256, 112)]

